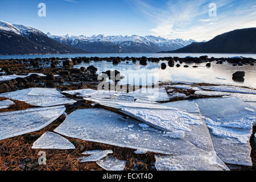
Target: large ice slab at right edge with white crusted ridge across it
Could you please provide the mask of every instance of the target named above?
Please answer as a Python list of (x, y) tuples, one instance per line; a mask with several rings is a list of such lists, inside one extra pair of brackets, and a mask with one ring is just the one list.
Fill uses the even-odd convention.
[(237, 97), (195, 101), (204, 115), (217, 155), (229, 164), (251, 166), (250, 137), (255, 111)]

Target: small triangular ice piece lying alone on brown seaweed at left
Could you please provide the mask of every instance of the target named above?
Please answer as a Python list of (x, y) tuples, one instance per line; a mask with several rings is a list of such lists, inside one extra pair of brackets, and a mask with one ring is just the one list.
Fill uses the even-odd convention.
[(32, 146), (32, 149), (60, 149), (60, 150), (71, 150), (76, 147), (69, 142), (68, 139), (61, 137), (56, 133), (47, 131), (36, 140)]

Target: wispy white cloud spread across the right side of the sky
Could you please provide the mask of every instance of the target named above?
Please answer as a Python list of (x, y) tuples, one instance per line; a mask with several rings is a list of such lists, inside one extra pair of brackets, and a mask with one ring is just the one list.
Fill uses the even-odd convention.
[(256, 27), (254, 0), (216, 0), (217, 17), (209, 16), (209, 0), (169, 0), (164, 8), (143, 0), (133, 2), (155, 25), (152, 34), (165, 38), (202, 41), (238, 28)]

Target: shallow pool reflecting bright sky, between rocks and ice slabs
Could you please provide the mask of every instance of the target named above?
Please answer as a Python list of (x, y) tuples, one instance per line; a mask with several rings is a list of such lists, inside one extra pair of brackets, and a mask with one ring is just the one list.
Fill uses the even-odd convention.
[[(161, 64), (166, 63), (167, 68), (162, 70)], [(177, 64), (177, 63), (176, 63)], [(105, 71), (114, 71), (115, 69), (121, 72), (121, 75), (126, 78), (120, 81), (120, 84), (133, 84), (134, 79), (129, 79), (129, 75), (153, 75), (153, 79), (159, 81), (188, 81), (188, 82), (204, 82), (210, 84), (225, 84), (225, 85), (237, 85), (237, 86), (247, 86), (250, 88), (256, 88), (256, 71), (255, 66), (244, 65), (243, 67), (233, 67), (232, 64), (216, 64), (212, 63), (212, 67), (206, 67), (206, 63), (197, 64), (198, 68), (193, 68), (195, 65), (191, 64), (180, 64), (181, 67), (168, 67), (167, 61), (160, 61), (159, 63), (148, 62), (147, 65), (139, 65), (133, 63), (132, 61), (122, 61), (118, 65), (113, 65), (111, 62), (107, 61), (90, 61), (90, 63), (82, 63), (76, 65), (76, 68), (89, 67), (89, 65), (94, 65), (98, 68), (98, 73)], [(184, 68), (184, 65), (189, 65), (188, 68)], [(232, 80), (233, 73), (237, 71), (245, 71), (245, 81), (238, 82)], [(131, 77), (131, 76), (130, 76)], [(158, 77), (158, 78), (156, 78)], [(138, 81), (137, 81), (138, 82)], [(141, 85), (147, 85), (147, 81), (140, 82)]]

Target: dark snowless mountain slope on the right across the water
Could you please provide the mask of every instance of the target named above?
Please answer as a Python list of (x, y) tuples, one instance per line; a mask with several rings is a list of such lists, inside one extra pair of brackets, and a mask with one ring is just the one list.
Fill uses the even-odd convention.
[(226, 32), (208, 42), (192, 43), (167, 53), (256, 53), (256, 28)]

